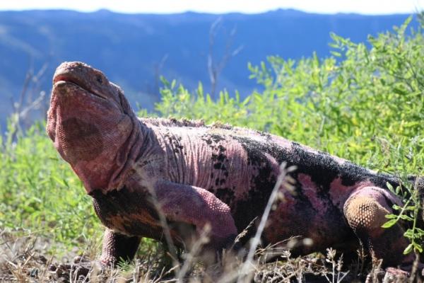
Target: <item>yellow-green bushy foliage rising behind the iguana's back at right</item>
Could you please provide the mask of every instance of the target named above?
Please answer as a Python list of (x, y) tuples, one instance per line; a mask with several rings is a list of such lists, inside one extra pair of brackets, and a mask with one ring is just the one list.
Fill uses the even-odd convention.
[[(424, 38), (394, 32), (355, 44), (331, 35), (332, 57), (297, 62), (269, 57), (249, 65), (259, 83), (245, 99), (214, 102), (165, 81), (161, 115), (220, 120), (317, 147), (381, 170), (419, 173), (424, 144)], [(398, 148), (401, 146), (401, 148)], [(399, 152), (404, 151), (404, 152)], [(391, 154), (389, 154), (391, 153)], [(401, 158), (396, 164), (389, 159)], [(403, 155), (403, 156), (399, 156)], [(400, 163), (399, 163), (400, 162)]]

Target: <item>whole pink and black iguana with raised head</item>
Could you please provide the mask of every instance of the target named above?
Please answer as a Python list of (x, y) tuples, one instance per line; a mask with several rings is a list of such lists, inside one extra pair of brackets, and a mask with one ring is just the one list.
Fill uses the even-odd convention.
[[(165, 241), (160, 214), (177, 246), (189, 246), (206, 224), (206, 250), (232, 243), (260, 219), (282, 162), (296, 166), (295, 194), (269, 216), (264, 245), (311, 238), (295, 254), (362, 242), (385, 266), (407, 265), (404, 229), (382, 229), (401, 205), (386, 189), (400, 181), (271, 134), (199, 121), (138, 119), (122, 90), (81, 62), (61, 64), (53, 80), (47, 133), (83, 181), (107, 226), (102, 261), (131, 259), (141, 237)], [(160, 207), (160, 212), (158, 212)], [(249, 230), (254, 233), (255, 227)]]

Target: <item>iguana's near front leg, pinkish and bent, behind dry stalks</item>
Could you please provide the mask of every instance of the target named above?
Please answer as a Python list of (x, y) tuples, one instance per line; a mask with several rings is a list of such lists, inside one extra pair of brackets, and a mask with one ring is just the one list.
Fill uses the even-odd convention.
[(196, 226), (199, 234), (211, 225), (206, 248), (220, 250), (228, 247), (237, 236), (230, 207), (201, 187), (158, 181), (154, 194), (166, 219)]

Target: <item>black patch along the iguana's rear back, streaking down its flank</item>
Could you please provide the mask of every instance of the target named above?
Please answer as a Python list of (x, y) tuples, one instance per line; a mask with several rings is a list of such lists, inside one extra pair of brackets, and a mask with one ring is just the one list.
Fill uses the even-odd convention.
[[(399, 184), (394, 176), (371, 173), (351, 162), (340, 164), (329, 154), (312, 153), (297, 143), (293, 143), (292, 148), (288, 150), (272, 141), (261, 143), (249, 137), (233, 136), (232, 138), (239, 141), (247, 152), (249, 165), (256, 166), (259, 171), (256, 176), (252, 177), (251, 182), (254, 186), (249, 191), (247, 200), (237, 202), (233, 214), (237, 229), (244, 229), (255, 216), (262, 214), (276, 183), (276, 176), (271, 168), (269, 158), (266, 156), (268, 154), (273, 156), (278, 163), (286, 162), (288, 166), (296, 166), (296, 171), (292, 173), (292, 177), (296, 180), (300, 173), (309, 175), (312, 182), (317, 184), (317, 195), (322, 200), (330, 200), (330, 185), (336, 178), (341, 178), (343, 185), (346, 186), (354, 185), (362, 180), (370, 180), (379, 187), (386, 187), (387, 182), (392, 183), (392, 185)], [(313, 211), (312, 204), (308, 197), (303, 194), (300, 184), (296, 183), (295, 187), (296, 207), (303, 212), (307, 211), (306, 207)], [(343, 219), (340, 209), (331, 202), (327, 203), (329, 203), (329, 215), (334, 217), (334, 221)]]

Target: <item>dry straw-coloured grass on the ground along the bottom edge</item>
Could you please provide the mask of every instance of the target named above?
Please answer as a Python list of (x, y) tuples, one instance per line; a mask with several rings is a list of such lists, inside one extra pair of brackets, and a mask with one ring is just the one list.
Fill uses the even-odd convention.
[[(0, 231), (0, 282), (422, 282), (416, 276), (387, 281), (381, 262), (364, 263), (366, 257), (358, 253), (345, 265), (343, 256), (332, 249), (326, 255), (293, 258), (281, 245), (259, 247), (246, 274), (245, 255), (224, 253), (218, 263), (206, 266), (188, 253), (172, 267), (162, 250), (146, 250), (131, 264), (112, 270), (95, 264), (98, 243), (87, 243), (84, 255), (69, 252), (61, 258), (49, 255), (50, 245), (48, 238), (35, 234)], [(271, 257), (276, 260), (267, 262)]]

